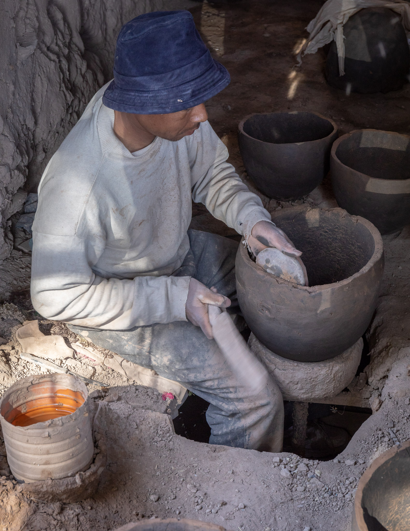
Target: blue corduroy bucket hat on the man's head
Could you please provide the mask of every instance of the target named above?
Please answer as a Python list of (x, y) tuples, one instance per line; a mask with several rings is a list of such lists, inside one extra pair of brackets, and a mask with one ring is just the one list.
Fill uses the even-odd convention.
[(212, 59), (189, 11), (156, 11), (121, 28), (114, 81), (103, 104), (124, 113), (175, 113), (203, 103), (229, 82), (228, 71)]

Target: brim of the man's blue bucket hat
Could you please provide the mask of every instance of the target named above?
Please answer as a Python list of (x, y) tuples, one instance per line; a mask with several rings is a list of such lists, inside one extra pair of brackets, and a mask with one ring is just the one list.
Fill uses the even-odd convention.
[(229, 72), (215, 59), (197, 78), (177, 87), (161, 90), (127, 90), (112, 81), (104, 92), (103, 104), (132, 114), (168, 114), (189, 109), (217, 95), (230, 83)]

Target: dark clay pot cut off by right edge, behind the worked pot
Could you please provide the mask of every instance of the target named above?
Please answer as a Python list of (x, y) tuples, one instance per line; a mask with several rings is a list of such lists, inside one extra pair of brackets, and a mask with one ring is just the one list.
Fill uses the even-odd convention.
[(333, 144), (330, 166), (339, 207), (368, 219), (381, 234), (410, 223), (410, 136), (352, 131)]

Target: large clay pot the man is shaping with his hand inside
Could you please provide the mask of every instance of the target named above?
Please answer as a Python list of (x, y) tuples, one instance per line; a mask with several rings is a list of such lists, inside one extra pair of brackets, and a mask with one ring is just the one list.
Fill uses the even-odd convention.
[(270, 275), (240, 245), (236, 289), (246, 323), (279, 356), (298, 362), (335, 357), (371, 321), (384, 268), (380, 233), (340, 208), (287, 208), (272, 219), (303, 252), (309, 287)]

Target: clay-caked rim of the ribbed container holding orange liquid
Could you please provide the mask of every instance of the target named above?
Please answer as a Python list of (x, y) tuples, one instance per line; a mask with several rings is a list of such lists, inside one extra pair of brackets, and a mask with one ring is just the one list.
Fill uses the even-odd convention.
[[(70, 373), (60, 373), (60, 372), (53, 372), (53, 373), (50, 373), (50, 374), (34, 374), (32, 376), (24, 376), (24, 378), (20, 378), (19, 380), (17, 380), (16, 382), (14, 382), (10, 387), (8, 387), (2, 397), (0, 398), (0, 410), (2, 408), (2, 405), (3, 405), (3, 401), (6, 400), (6, 398), (8, 399), (8, 397), (10, 396), (10, 391), (12, 389), (12, 387), (16, 386), (16, 384), (18, 383), (22, 383), (23, 381), (27, 381), (27, 383), (30, 385), (30, 382), (31, 382), (31, 385), (33, 385), (33, 379), (35, 378), (40, 378), (41, 380), (46, 380), (47, 377), (51, 377), (51, 376), (71, 376), (74, 380), (75, 380), (75, 383), (78, 385), (80, 384), (80, 386), (82, 386), (83, 388), (79, 389), (79, 391), (81, 391), (84, 395), (84, 402), (81, 404), (81, 406), (79, 406), (73, 413), (71, 413), (70, 415), (65, 415), (65, 416), (62, 416), (62, 417), (56, 417), (56, 418), (53, 418), (51, 419), (50, 421), (44, 421), (44, 422), (36, 422), (35, 424), (29, 424), (28, 426), (14, 426), (14, 424), (12, 424), (11, 422), (8, 422), (4, 416), (0, 413), (0, 416), (2, 417), (2, 422), (5, 422), (6, 424), (8, 424), (9, 426), (12, 426), (12, 429), (14, 430), (14, 432), (17, 434), (21, 434), (21, 435), (28, 435), (30, 431), (32, 430), (35, 430), (35, 433), (32, 433), (30, 434), (30, 436), (39, 436), (38, 435), (38, 430), (50, 430), (50, 429), (53, 429), (53, 427), (57, 427), (57, 426), (60, 426), (59, 422), (61, 421), (62, 423), (66, 423), (66, 422), (72, 422), (74, 419), (76, 419), (77, 417), (81, 417), (81, 415), (84, 414), (84, 409), (86, 409), (87, 405), (88, 405), (88, 389), (87, 389), (87, 386), (86, 384), (80, 380), (80, 378), (78, 378), (78, 376), (74, 376), (73, 374), (70, 374)], [(36, 382), (36, 383), (40, 383), (40, 382)], [(16, 391), (17, 389), (14, 389), (14, 391)], [(20, 390), (21, 391), (21, 390)], [(11, 391), (13, 392), (13, 391)], [(57, 421), (57, 422), (53, 422), (53, 421)]]

